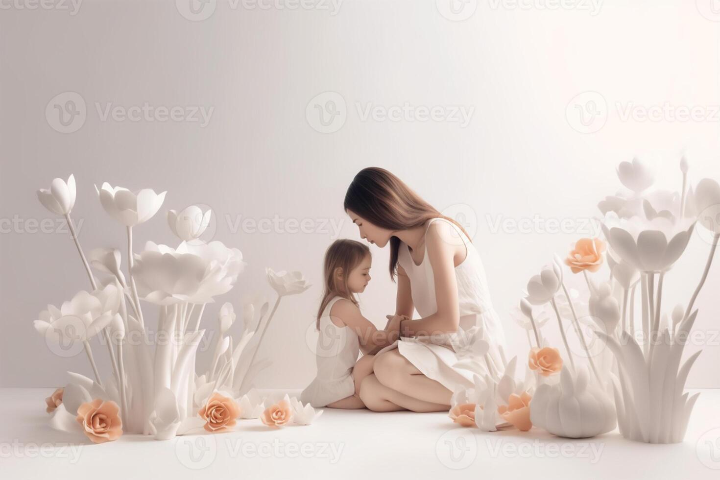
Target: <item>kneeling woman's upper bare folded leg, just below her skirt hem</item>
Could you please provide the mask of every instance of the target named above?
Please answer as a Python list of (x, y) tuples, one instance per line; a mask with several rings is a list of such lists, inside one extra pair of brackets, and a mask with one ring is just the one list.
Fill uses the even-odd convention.
[(377, 356), (374, 361), (377, 380), (389, 389), (405, 396), (431, 404), (441, 404), (450, 409), (452, 392), (436, 380), (428, 379), (400, 352), (390, 350)]

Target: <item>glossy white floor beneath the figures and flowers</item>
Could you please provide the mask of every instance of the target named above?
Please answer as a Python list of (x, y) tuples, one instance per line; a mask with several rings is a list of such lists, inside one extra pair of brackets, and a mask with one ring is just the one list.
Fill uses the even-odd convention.
[[(325, 409), (315, 425), (165, 442), (140, 435), (93, 445), (48, 427), (51, 389), (0, 389), (0, 478), (52, 479), (718, 479), (720, 390), (703, 389), (688, 434), (646, 445), (617, 432), (588, 440), (534, 428), (482, 433), (444, 413)], [(292, 392), (291, 392), (292, 393)]]

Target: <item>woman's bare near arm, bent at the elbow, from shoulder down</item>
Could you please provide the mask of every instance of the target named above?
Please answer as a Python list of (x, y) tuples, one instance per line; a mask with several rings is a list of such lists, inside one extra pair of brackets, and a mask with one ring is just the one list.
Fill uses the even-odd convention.
[[(447, 240), (452, 238), (451, 229), (451, 225), (446, 222), (433, 222), (425, 235), (428, 261), (433, 267), (438, 311), (419, 320), (402, 321), (400, 324), (402, 336), (456, 332), (459, 327), (460, 307), (455, 277), (455, 256), (465, 255), (466, 250), (462, 245)], [(398, 282), (398, 295), (399, 289), (400, 282)]]

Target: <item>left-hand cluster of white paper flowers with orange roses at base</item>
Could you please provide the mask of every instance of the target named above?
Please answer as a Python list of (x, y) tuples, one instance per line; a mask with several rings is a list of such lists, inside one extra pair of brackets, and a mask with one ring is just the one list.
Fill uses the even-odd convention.
[[(264, 302), (254, 322), (258, 302), (248, 302), (243, 307), (243, 332), (233, 339), (228, 330), (235, 313), (231, 304), (225, 304), (212, 365), (197, 376), (195, 355), (205, 331), (200, 329), (204, 307), (233, 288), (245, 266), (242, 253), (217, 240), (202, 240), (211, 212), (195, 206), (168, 212), (168, 225), (181, 240), (176, 248), (148, 242), (135, 253), (133, 228), (158, 212), (166, 192), (130, 191), (107, 183), (96, 192), (107, 214), (125, 227), (125, 273), (120, 250), (96, 248), (87, 257), (84, 254), (71, 219), (76, 201), (72, 175), (68, 181), (55, 178), (50, 189), (37, 191), (50, 212), (65, 217), (91, 285), (91, 290), (79, 291), (59, 308), (48, 305), (35, 321), (48, 346), (78, 345), (84, 350), (94, 375), (92, 380), (70, 373), (70, 383), (47, 399), (52, 425), (80, 429), (96, 443), (115, 440), (123, 431), (165, 440), (187, 430), (197, 418), (209, 431), (232, 427), (242, 412), (233, 397), (245, 394), (253, 377), (270, 364), (255, 358), (280, 300), (310, 285), (299, 272), (275, 273), (268, 268), (267, 279), (278, 295), (271, 313), (266, 315)], [(152, 338), (145, 327), (143, 302), (158, 309), (158, 332)], [(261, 335), (256, 337), (258, 329)], [(103, 376), (94, 360), (89, 340), (98, 335), (107, 347), (112, 376)], [(223, 396), (219, 391), (232, 393)], [(282, 407), (268, 412), (275, 425), (289, 420)], [(306, 407), (298, 407), (296, 417), (301, 422), (312, 413)]]

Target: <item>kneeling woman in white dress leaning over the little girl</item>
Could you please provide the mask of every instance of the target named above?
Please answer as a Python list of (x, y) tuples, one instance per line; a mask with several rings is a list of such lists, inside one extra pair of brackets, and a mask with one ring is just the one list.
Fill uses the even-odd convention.
[[(397, 279), (391, 322), (401, 339), (377, 353), (360, 398), (378, 412), (449, 409), (453, 391), (472, 386), (474, 373), (503, 368), (505, 336), (480, 255), (460, 225), (383, 168), (365, 168), (355, 176), (345, 211), (364, 240), (380, 248), (390, 244), (390, 277)], [(420, 319), (402, 320), (413, 319), (415, 309)], [(480, 329), (488, 351), (458, 363), (464, 357), (459, 333), (470, 329)], [(468, 364), (473, 368), (465, 368)]]

